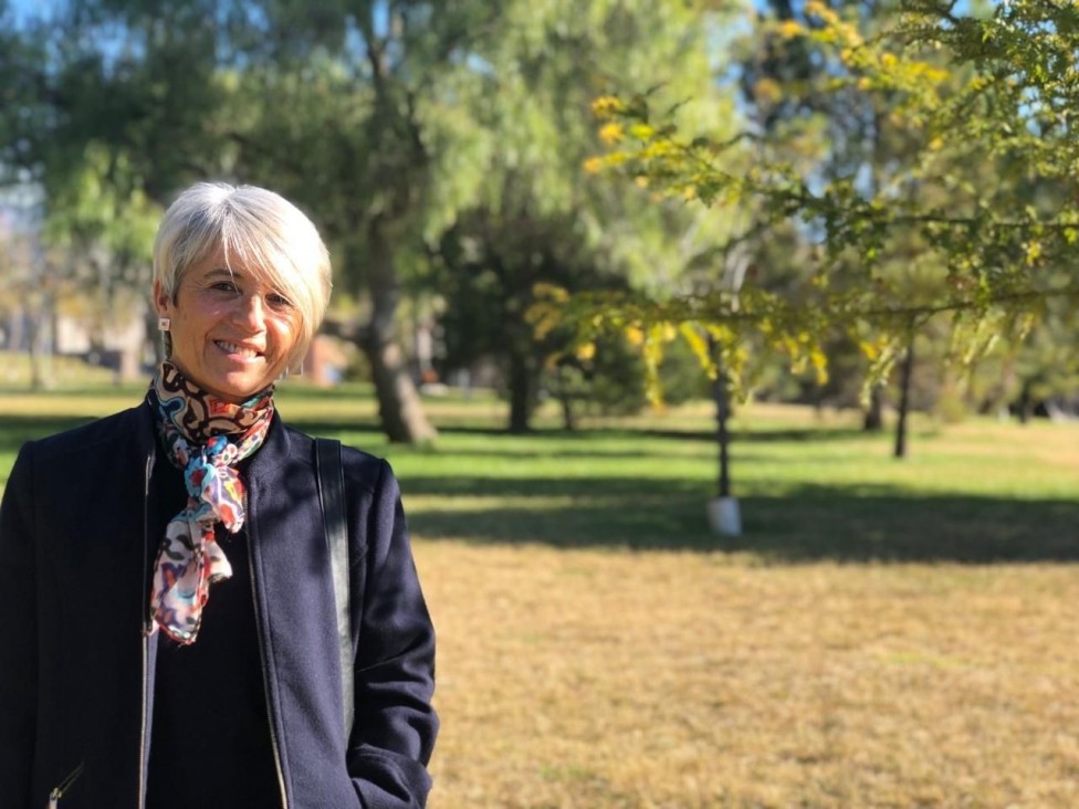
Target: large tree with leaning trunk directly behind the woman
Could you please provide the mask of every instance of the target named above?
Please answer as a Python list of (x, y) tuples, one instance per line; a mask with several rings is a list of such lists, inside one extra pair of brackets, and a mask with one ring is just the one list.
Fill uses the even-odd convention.
[(471, 71), (468, 38), (486, 31), (485, 4), (81, 0), (53, 12), (19, 38), (50, 54), (17, 65), (30, 67), (22, 108), (34, 111), (39, 146), (14, 138), (6, 157), (42, 179), (54, 209), (64, 199), (54, 190), (84, 171), (94, 144), (126, 155), (137, 189), (159, 204), (214, 177), (285, 191), (323, 224), (344, 276), (369, 291), (356, 338), (384, 429), (431, 438), (395, 334), (398, 244), (430, 219), (428, 99)]

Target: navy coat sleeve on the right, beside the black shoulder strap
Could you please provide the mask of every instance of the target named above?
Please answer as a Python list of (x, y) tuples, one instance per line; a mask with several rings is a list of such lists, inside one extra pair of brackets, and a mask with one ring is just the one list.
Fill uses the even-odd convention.
[(353, 605), (359, 631), (348, 770), (365, 809), (422, 807), (431, 788), (427, 763), (438, 733), (431, 706), (434, 629), (416, 574), (397, 480), (385, 461), (363, 527), (364, 569), (354, 569), (354, 580), (364, 577), (364, 597), (362, 605)]

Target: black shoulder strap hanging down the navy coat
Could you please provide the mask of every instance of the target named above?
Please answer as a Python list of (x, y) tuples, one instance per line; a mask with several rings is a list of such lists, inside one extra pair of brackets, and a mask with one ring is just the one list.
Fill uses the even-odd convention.
[(345, 528), (345, 473), (341, 463), (341, 441), (315, 439), (315, 474), (318, 477), (318, 501), (322, 505), (326, 545), (329, 548), (334, 601), (337, 607), (337, 652), (341, 656), (342, 705), (347, 744), (355, 716), (353, 690), (355, 655), (349, 620), (348, 532)]

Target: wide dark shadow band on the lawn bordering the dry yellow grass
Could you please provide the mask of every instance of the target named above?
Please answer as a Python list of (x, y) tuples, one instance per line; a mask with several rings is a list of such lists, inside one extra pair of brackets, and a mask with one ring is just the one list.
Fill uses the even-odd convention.
[[(410, 511), (412, 533), (429, 539), (748, 551), (775, 564), (1079, 561), (1079, 503), (1062, 500), (806, 486), (743, 498), (744, 535), (720, 537), (706, 526), (709, 493), (693, 481), (410, 477), (404, 486), (406, 507), (415, 495), (518, 501)], [(534, 506), (520, 503), (528, 497)]]

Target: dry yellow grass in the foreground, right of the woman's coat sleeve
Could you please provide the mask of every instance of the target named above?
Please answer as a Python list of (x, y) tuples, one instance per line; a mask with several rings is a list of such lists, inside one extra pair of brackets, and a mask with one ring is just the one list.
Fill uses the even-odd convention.
[(417, 538), (432, 809), (1079, 806), (1079, 570)]

